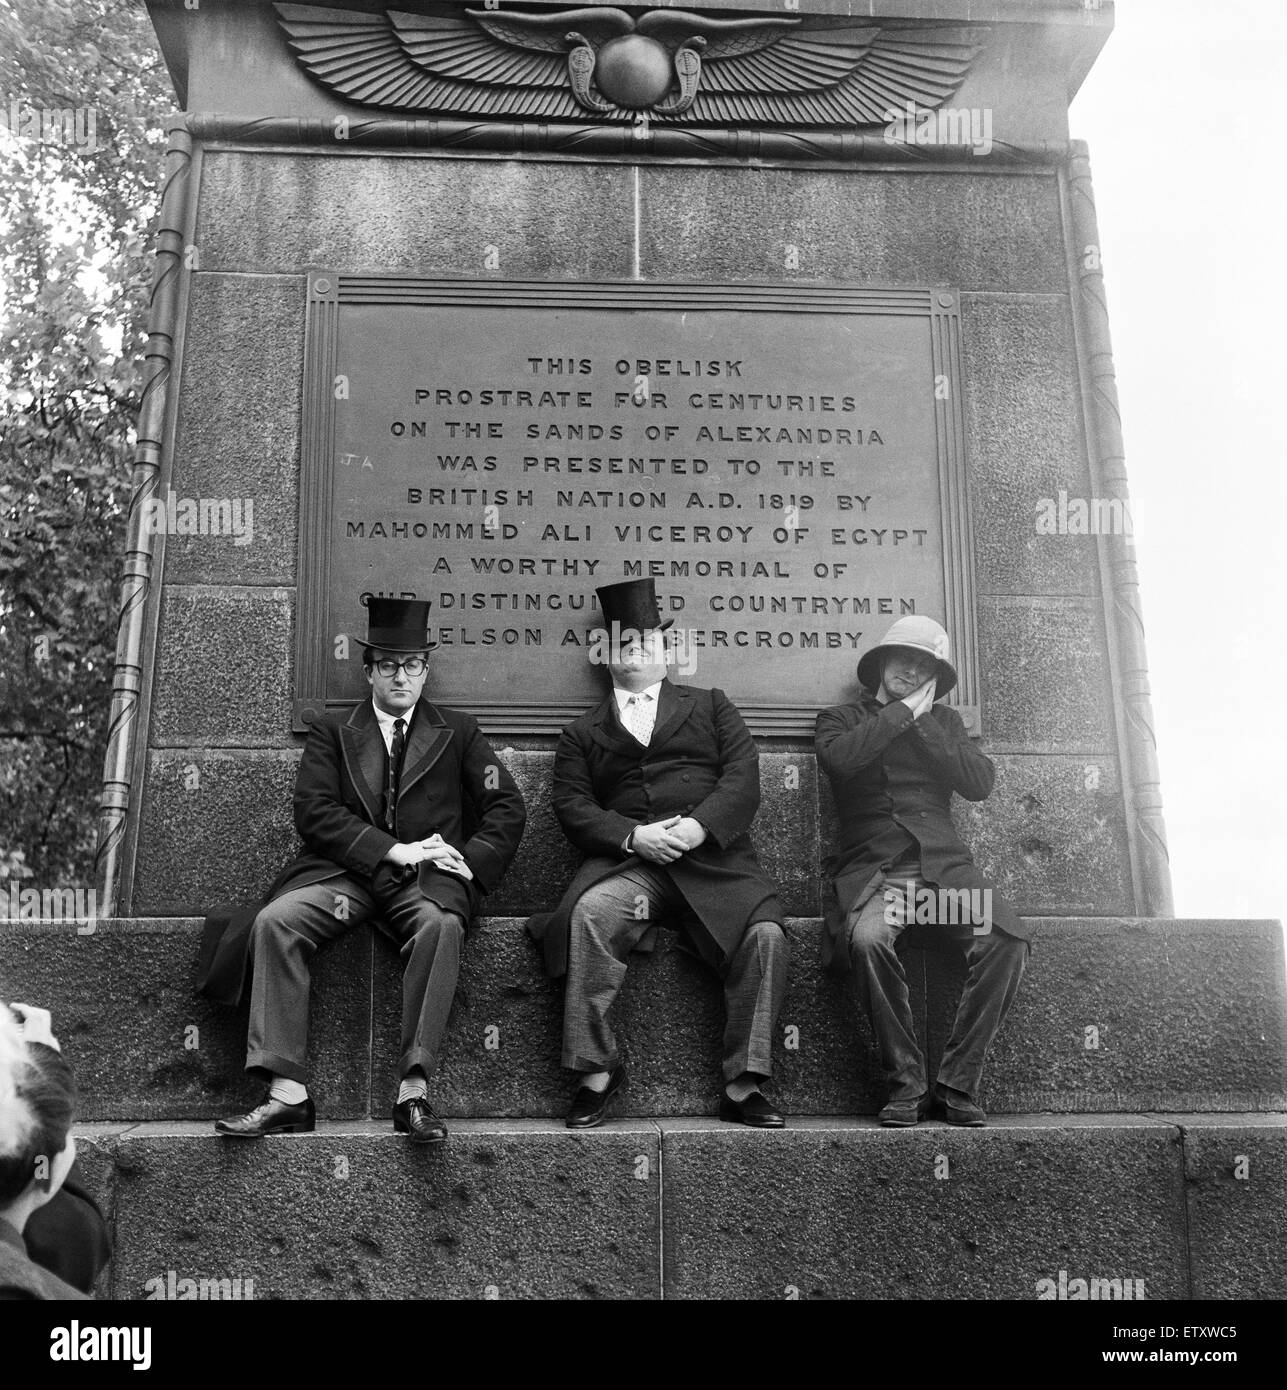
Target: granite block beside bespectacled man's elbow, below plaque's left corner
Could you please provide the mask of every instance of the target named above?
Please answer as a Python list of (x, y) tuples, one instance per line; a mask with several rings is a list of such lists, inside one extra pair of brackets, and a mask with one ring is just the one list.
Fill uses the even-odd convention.
[(140, 790), (132, 910), (203, 916), (218, 902), (253, 902), (295, 858), (290, 802), (299, 753), (149, 753)]

